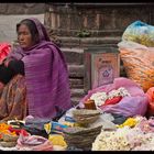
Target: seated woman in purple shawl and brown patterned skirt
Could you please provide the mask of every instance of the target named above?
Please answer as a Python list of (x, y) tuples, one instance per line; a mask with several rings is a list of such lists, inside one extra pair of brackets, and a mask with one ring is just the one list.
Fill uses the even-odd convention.
[[(15, 75), (3, 88), (0, 98), (0, 120), (54, 118), (55, 106), (69, 109), (70, 91), (67, 65), (61, 50), (50, 41), (43, 24), (25, 19), (16, 25), (20, 46), (3, 62), (24, 64), (24, 75)], [(16, 65), (18, 67), (18, 65)]]

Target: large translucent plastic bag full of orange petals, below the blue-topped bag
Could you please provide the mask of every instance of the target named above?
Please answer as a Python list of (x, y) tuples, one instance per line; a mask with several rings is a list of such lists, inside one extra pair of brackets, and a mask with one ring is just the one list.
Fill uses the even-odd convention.
[(128, 78), (139, 84), (144, 91), (154, 87), (154, 47), (129, 41), (122, 41), (118, 46)]

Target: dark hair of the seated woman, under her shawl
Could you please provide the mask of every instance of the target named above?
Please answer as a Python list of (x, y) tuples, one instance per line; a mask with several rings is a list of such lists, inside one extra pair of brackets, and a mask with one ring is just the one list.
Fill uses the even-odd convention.
[(36, 29), (35, 23), (29, 19), (22, 20), (20, 23), (16, 24), (16, 32), (19, 31), (19, 28), (21, 24), (25, 24), (29, 28), (30, 33), (32, 35), (32, 40), (34, 41), (34, 43), (37, 43), (38, 42), (38, 31)]

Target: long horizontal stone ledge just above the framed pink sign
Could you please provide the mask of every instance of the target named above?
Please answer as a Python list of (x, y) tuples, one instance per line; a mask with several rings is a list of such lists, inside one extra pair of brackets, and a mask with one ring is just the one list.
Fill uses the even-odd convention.
[(106, 37), (67, 37), (61, 36), (62, 47), (89, 47), (89, 46), (113, 46), (121, 41), (121, 36), (106, 36)]

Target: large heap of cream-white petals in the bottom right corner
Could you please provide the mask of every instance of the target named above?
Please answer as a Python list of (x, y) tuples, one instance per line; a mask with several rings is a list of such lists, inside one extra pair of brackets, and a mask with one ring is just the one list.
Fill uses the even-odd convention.
[(101, 131), (92, 143), (92, 151), (154, 151), (154, 119), (141, 118), (134, 127)]

